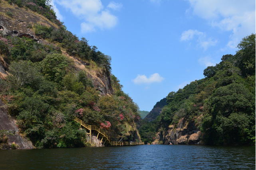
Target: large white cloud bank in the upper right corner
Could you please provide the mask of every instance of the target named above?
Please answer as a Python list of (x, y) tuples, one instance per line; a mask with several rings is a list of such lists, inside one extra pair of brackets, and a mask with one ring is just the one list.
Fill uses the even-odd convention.
[(208, 20), (211, 26), (232, 31), (227, 44), (235, 48), (241, 39), (255, 33), (254, 0), (187, 0), (193, 14)]

